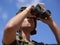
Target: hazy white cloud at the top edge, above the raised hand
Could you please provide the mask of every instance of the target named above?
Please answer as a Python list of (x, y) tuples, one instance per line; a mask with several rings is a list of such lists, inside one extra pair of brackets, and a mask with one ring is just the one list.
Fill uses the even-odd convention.
[(16, 6), (20, 8), (21, 6), (28, 6), (30, 4), (36, 5), (40, 3), (41, 0), (17, 0), (16, 1)]

